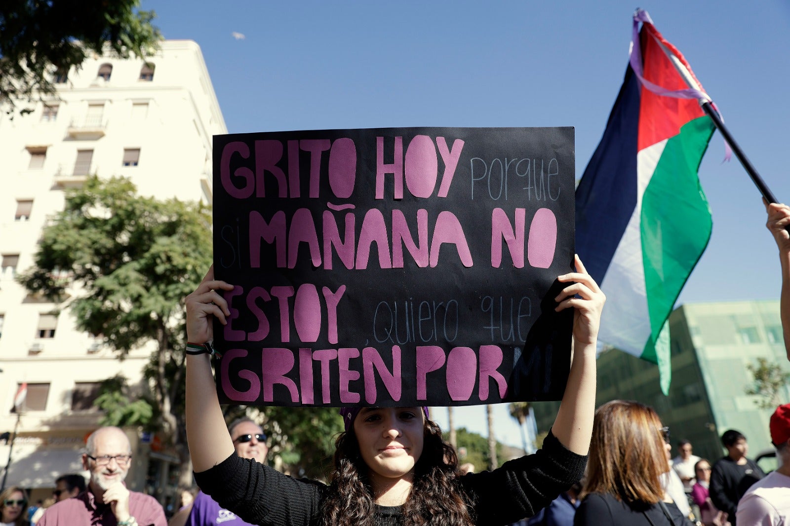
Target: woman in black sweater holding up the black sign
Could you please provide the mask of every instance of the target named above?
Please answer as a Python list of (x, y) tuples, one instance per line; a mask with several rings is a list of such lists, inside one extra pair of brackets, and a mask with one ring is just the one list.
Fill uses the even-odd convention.
[[(574, 358), (554, 426), (538, 453), (461, 475), (427, 408), (343, 408), (332, 483), (292, 479), (235, 455), (206, 354), (186, 357), (186, 434), (198, 486), (253, 524), (510, 524), (581, 479), (595, 409), (596, 340), (604, 294), (576, 258), (556, 310), (574, 309)], [(230, 315), (213, 269), (186, 298), (193, 345)]]

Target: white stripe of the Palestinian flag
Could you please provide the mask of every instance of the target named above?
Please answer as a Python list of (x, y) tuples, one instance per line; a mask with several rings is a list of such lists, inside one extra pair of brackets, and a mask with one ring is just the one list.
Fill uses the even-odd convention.
[(637, 154), (637, 205), (600, 284), (607, 301), (598, 339), (634, 356), (641, 356), (651, 333), (642, 260), (641, 201), (666, 145), (666, 140), (660, 141)]

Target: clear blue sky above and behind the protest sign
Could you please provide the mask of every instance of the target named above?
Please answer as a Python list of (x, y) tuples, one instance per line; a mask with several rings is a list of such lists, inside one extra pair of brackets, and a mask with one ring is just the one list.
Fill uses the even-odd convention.
[[(165, 38), (201, 46), (230, 133), (574, 126), (580, 177), (623, 81), (637, 5), (143, 0), (142, 7), (156, 11)], [(640, 7), (686, 55), (778, 199), (790, 201), (790, 3)], [(717, 133), (700, 170), (713, 236), (681, 303), (779, 295), (757, 190), (737, 160), (723, 157)], [(483, 408), (457, 414), (484, 433)], [(519, 445), (503, 407), (497, 419), (498, 438)]]

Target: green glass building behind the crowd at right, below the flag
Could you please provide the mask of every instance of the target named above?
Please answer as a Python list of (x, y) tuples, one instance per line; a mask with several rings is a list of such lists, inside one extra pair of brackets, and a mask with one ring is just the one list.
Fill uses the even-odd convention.
[[(694, 454), (716, 460), (724, 449), (720, 435), (739, 430), (749, 442), (749, 456), (771, 448), (768, 420), (772, 409), (759, 409), (757, 396), (746, 394), (754, 384), (747, 369), (758, 358), (790, 369), (784, 351), (779, 302), (739, 301), (687, 303), (672, 312), (670, 345), (672, 384), (661, 393), (658, 367), (617, 349), (598, 359), (596, 405), (608, 400), (638, 400), (656, 409), (675, 443), (687, 438)], [(790, 402), (790, 385), (779, 393)], [(536, 403), (539, 431), (546, 431), (556, 404)]]

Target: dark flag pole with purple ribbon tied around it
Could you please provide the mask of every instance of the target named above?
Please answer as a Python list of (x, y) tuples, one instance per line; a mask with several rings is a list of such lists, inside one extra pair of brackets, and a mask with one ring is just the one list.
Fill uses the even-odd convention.
[[(631, 53), (632, 67), (634, 66), (634, 62), (638, 61), (639, 57), (641, 56), (638, 52), (639, 51), (638, 50), (639, 22), (649, 22), (650, 24), (653, 23), (653, 21), (650, 19), (650, 15), (644, 9), (637, 9), (636, 13), (634, 13), (634, 40), (632, 42), (632, 46), (634, 47), (634, 49), (632, 50)], [(754, 182), (754, 186), (757, 186), (758, 190), (760, 190), (762, 197), (765, 197), (766, 201), (768, 201), (769, 203), (778, 203), (779, 201), (777, 201), (777, 198), (773, 195), (773, 192), (766, 185), (766, 182), (763, 181), (762, 177), (760, 177), (757, 169), (754, 168), (754, 165), (746, 156), (746, 153), (743, 152), (743, 149), (741, 149), (738, 142), (735, 141), (735, 137), (732, 137), (732, 133), (730, 133), (730, 130), (728, 130), (727, 126), (724, 126), (724, 120), (721, 118), (721, 115), (717, 111), (715, 104), (713, 103), (713, 100), (710, 100), (708, 94), (702, 91), (702, 88), (697, 82), (697, 79), (694, 78), (694, 75), (688, 70), (686, 65), (683, 64), (683, 61), (681, 61), (675, 55), (675, 53), (672, 52), (672, 50), (669, 47), (664, 45), (664, 43), (661, 42), (660, 39), (656, 39), (656, 43), (658, 43), (659, 47), (661, 48), (661, 51), (664, 51), (664, 54), (667, 55), (669, 62), (672, 62), (672, 66), (675, 66), (675, 70), (678, 71), (680, 77), (683, 78), (683, 81), (685, 81), (686, 85), (689, 87), (689, 89), (687, 90), (679, 90), (678, 92), (676, 92), (678, 93), (678, 95), (673, 95), (670, 92), (664, 92), (663, 94), (668, 96), (678, 96), (682, 98), (690, 98), (690, 96), (696, 97), (700, 107), (702, 107), (702, 111), (705, 111), (705, 114), (707, 114), (710, 120), (713, 121), (713, 125), (716, 126), (717, 130), (719, 130), (721, 132), (721, 135), (724, 136), (724, 141), (726, 141), (725, 144), (728, 145), (729, 148), (732, 148), (732, 152), (735, 152), (735, 156), (738, 157), (738, 160), (740, 161), (741, 165), (743, 165), (743, 169), (746, 170), (747, 174), (749, 174), (749, 177), (751, 177), (752, 182)], [(636, 52), (634, 53), (634, 51)], [(649, 83), (649, 81), (644, 81), (641, 78), (640, 80), (642, 80), (643, 83), (646, 82), (648, 84), (647, 86), (648, 89), (655, 91), (653, 90), (652, 86), (649, 86), (649, 84), (651, 84)], [(667, 91), (667, 90), (663, 90), (663, 88), (660, 88), (659, 86), (656, 86), (656, 88), (662, 91)], [(788, 227), (788, 230), (790, 230), (790, 227)]]

